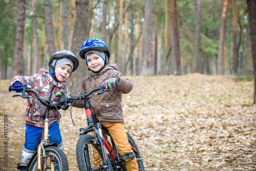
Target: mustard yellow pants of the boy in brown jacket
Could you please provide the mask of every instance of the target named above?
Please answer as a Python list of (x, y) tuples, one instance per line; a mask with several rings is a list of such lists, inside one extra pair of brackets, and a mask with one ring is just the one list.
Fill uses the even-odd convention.
[[(109, 131), (111, 137), (115, 142), (117, 151), (121, 155), (121, 157), (123, 157), (125, 153), (133, 152), (128, 142), (123, 123), (101, 121), (101, 124)], [(94, 132), (92, 132), (91, 134), (92, 136), (94, 136)], [(94, 153), (95, 152), (98, 153), (96, 150), (94, 151)], [(99, 154), (96, 153), (94, 154), (94, 156), (99, 156)], [(100, 159), (100, 162), (102, 163), (102, 159)], [(136, 158), (126, 162), (125, 164), (128, 171), (138, 170)]]

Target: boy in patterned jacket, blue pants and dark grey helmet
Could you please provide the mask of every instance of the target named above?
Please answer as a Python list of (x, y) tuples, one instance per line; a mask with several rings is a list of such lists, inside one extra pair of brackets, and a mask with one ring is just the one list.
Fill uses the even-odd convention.
[[(78, 66), (79, 61), (76, 56), (68, 50), (61, 50), (50, 57), (49, 70), (40, 69), (38, 74), (32, 76), (15, 76), (11, 82), (14, 91), (21, 93), (23, 86), (30, 85), (42, 99), (56, 100), (59, 91), (68, 93), (66, 80), (70, 77)], [(33, 93), (30, 96), (35, 97)], [(53, 98), (51, 98), (53, 97)], [(26, 142), (22, 151), (21, 162), (28, 164), (40, 140), (42, 129), (44, 128), (44, 114), (46, 106), (42, 105), (37, 98), (29, 98), (26, 108)], [(64, 149), (58, 126), (59, 114), (57, 110), (49, 111), (49, 136), (51, 143), (57, 143), (60, 149)]]

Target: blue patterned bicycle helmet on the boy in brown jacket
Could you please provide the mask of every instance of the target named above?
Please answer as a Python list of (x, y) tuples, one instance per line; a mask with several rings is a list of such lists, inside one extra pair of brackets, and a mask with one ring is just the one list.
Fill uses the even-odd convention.
[(90, 38), (86, 41), (83, 42), (80, 51), (79, 51), (79, 56), (82, 59), (85, 59), (84, 54), (86, 54), (86, 52), (90, 51), (90, 50), (97, 50), (100, 52), (104, 52), (106, 55), (106, 59), (105, 61), (105, 65), (109, 62), (109, 58), (110, 58), (110, 48), (109, 46), (106, 44), (105, 41), (99, 39), (99, 38)]

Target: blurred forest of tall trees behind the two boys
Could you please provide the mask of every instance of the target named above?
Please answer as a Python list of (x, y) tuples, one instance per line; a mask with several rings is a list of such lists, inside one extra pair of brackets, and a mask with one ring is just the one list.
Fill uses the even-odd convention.
[[(48, 69), (61, 49), (79, 58), (90, 37), (107, 42), (124, 75), (253, 73), (245, 0), (4, 0), (0, 9), (1, 79)], [(80, 61), (75, 90), (89, 74)]]

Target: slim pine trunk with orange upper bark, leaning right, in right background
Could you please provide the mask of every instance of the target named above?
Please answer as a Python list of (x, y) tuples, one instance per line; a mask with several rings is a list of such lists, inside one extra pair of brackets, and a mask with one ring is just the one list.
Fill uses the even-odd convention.
[(226, 25), (227, 25), (227, 13), (228, 13), (229, 0), (224, 0), (224, 5), (221, 15), (221, 29), (220, 29), (220, 40), (219, 40), (219, 51), (218, 51), (218, 74), (225, 74), (224, 65), (224, 43), (226, 37)]

